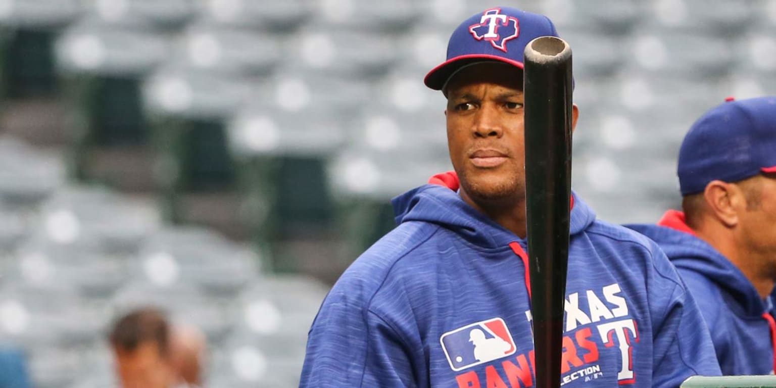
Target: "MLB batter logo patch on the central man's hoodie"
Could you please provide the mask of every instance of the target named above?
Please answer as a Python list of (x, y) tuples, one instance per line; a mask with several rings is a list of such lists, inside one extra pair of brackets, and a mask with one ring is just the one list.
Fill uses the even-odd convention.
[(456, 372), (513, 355), (517, 351), (512, 334), (501, 318), (481, 320), (448, 331), (439, 341), (450, 368)]

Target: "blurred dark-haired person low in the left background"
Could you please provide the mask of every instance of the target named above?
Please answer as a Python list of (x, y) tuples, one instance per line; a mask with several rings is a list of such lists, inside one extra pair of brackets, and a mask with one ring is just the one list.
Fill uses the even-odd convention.
[(201, 383), (205, 339), (194, 327), (173, 326), (154, 308), (120, 317), (109, 334), (122, 388), (185, 388)]

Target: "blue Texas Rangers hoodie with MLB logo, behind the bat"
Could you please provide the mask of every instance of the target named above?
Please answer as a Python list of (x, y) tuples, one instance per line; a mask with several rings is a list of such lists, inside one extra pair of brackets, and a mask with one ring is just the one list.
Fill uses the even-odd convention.
[[(660, 248), (573, 203), (563, 385), (718, 376), (698, 307)], [(393, 206), (398, 227), (320, 307), (300, 386), (535, 386), (525, 240), (439, 185)]]

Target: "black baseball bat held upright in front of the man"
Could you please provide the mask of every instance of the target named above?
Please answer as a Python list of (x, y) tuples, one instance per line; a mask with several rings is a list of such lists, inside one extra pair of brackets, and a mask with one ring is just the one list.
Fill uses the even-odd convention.
[(525, 47), (525, 196), (536, 386), (560, 386), (571, 196), (571, 47), (542, 36)]

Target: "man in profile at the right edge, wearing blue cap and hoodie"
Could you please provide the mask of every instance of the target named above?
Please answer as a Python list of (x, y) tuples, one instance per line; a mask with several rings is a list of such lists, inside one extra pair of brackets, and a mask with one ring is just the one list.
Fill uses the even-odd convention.
[(773, 374), (776, 96), (716, 106), (679, 151), (684, 212), (632, 225), (660, 244), (701, 307), (724, 375)]

